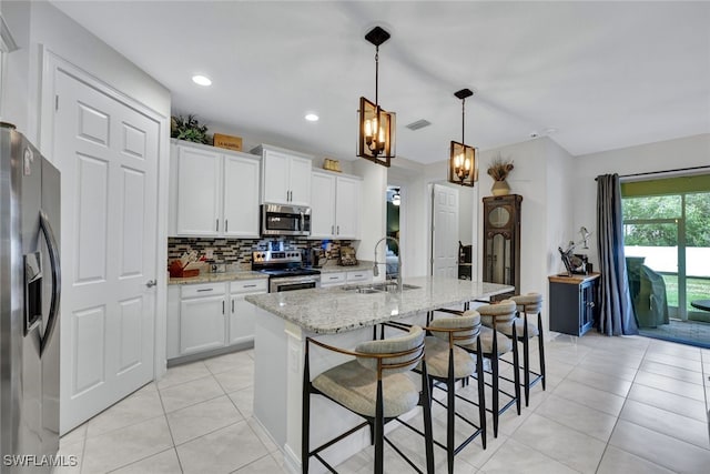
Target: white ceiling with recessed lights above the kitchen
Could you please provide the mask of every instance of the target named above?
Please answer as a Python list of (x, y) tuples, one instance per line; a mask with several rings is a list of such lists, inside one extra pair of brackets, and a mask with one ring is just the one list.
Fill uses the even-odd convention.
[[(575, 155), (710, 132), (707, 2), (53, 3), (170, 89), (174, 112), (321, 157), (355, 155), (375, 24), (392, 33), (379, 102), (398, 157), (446, 159), (463, 88), (466, 142), (483, 150), (549, 128)], [(419, 119), (432, 125), (405, 128)]]

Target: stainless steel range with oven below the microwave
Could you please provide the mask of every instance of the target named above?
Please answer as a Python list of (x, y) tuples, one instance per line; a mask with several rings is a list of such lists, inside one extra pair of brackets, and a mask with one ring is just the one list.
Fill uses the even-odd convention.
[(298, 250), (252, 252), (252, 270), (268, 275), (270, 293), (321, 286), (321, 272), (303, 266)]

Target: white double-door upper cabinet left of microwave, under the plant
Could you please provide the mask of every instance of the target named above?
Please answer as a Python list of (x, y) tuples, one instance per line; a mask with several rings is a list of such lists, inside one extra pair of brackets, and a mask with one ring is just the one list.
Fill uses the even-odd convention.
[(170, 235), (258, 236), (258, 173), (251, 154), (173, 141)]

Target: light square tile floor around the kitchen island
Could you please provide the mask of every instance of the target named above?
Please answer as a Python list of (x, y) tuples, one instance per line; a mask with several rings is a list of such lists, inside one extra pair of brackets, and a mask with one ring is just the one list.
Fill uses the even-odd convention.
[[(551, 334), (547, 391), (456, 456), (456, 473), (707, 473), (710, 350), (640, 336)], [(170, 369), (61, 438), (79, 465), (57, 473), (280, 473), (283, 455), (252, 417), (253, 352)], [(703, 382), (704, 381), (704, 382)], [(469, 387), (465, 390), (469, 390)], [(444, 433), (435, 410), (435, 436)], [(489, 421), (490, 424), (490, 421)], [(460, 424), (457, 425), (460, 428)], [(463, 432), (460, 433), (463, 434)], [(422, 460), (418, 436), (392, 438)], [(436, 450), (437, 472), (446, 472)], [(338, 466), (372, 472), (372, 450)], [(412, 472), (392, 450), (387, 473)]]

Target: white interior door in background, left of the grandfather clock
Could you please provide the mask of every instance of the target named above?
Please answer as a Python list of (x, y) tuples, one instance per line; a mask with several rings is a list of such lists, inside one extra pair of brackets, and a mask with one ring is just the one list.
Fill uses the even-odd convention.
[(458, 276), (458, 190), (442, 184), (433, 192), (432, 274)]

